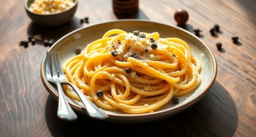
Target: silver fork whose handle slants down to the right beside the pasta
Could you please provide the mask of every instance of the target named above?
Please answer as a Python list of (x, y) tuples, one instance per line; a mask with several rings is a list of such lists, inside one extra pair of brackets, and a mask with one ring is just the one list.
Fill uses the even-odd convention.
[[(53, 54), (51, 54), (53, 57)], [(60, 84), (68, 84), (73, 90), (75, 90), (76, 94), (80, 97), (83, 105), (86, 108), (87, 114), (95, 119), (106, 119), (108, 117), (108, 115), (106, 113), (104, 113), (103, 111), (101, 111), (98, 107), (96, 107), (96, 105), (94, 105), (89, 99), (87, 99), (85, 97), (85, 95), (78, 89), (77, 86), (75, 86), (75, 84), (71, 83), (71, 82), (67, 82), (64, 73), (62, 71), (61, 68), (61, 64), (59, 61), (59, 54), (58, 52), (54, 52), (54, 59), (55, 59), (55, 65), (56, 65), (56, 70), (58, 72), (58, 78), (60, 79)], [(53, 59), (52, 59), (53, 60)], [(53, 65), (54, 66), (54, 65)], [(69, 105), (68, 105), (69, 106)], [(59, 115), (58, 115), (59, 116)]]

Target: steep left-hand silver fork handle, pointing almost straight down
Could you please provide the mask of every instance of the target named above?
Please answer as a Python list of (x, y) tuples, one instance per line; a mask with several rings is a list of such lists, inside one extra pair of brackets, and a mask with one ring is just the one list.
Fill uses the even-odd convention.
[(71, 109), (68, 101), (66, 100), (61, 84), (59, 82), (56, 82), (56, 84), (59, 91), (59, 106), (58, 106), (58, 112), (57, 112), (59, 119), (63, 119), (67, 121), (76, 120), (77, 116), (75, 112)]

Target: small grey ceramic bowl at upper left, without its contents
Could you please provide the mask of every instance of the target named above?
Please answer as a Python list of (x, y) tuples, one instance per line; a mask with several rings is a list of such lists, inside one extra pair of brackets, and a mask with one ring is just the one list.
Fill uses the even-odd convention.
[(27, 15), (33, 22), (43, 26), (59, 26), (68, 22), (75, 15), (78, 3), (78, 0), (74, 0), (75, 5), (67, 10), (57, 13), (39, 14), (29, 10), (29, 6), (33, 1), (34, 0), (25, 0), (24, 7), (27, 11)]

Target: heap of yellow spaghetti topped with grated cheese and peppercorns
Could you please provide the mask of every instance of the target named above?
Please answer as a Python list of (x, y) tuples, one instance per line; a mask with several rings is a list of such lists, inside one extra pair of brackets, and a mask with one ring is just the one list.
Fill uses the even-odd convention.
[[(120, 29), (106, 32), (63, 66), (68, 81), (89, 100), (128, 114), (153, 112), (173, 96), (192, 92), (201, 83), (200, 69), (181, 39)], [(96, 95), (99, 90), (101, 97)], [(67, 86), (65, 92), (80, 100)]]

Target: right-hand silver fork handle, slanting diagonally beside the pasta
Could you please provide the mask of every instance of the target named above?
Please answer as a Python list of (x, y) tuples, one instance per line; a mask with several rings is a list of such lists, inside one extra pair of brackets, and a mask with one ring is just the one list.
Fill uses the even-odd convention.
[(106, 113), (101, 111), (96, 105), (94, 105), (89, 99), (87, 99), (85, 95), (80, 91), (80, 89), (78, 89), (77, 86), (75, 86), (75, 84), (70, 82), (62, 82), (62, 84), (68, 84), (75, 90), (75, 92), (85, 105), (86, 111), (90, 117), (95, 119), (106, 119), (108, 117)]

